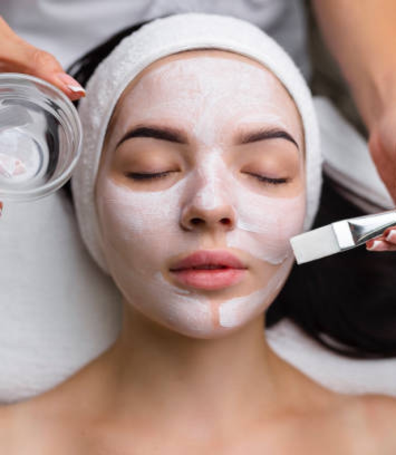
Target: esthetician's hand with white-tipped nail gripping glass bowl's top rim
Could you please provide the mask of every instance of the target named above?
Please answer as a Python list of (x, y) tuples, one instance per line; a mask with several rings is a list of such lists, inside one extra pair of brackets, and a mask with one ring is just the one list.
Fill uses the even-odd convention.
[(67, 75), (56, 58), (18, 37), (0, 16), (0, 72), (40, 77), (62, 90), (72, 101), (84, 96), (81, 85)]

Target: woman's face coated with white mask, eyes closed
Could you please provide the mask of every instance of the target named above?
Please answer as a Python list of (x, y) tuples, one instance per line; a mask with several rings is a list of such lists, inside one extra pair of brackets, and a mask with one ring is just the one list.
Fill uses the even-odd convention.
[(96, 201), (108, 268), (128, 304), (187, 336), (235, 330), (278, 294), (293, 262), (289, 238), (302, 231), (296, 107), (246, 57), (164, 58), (116, 106)]

